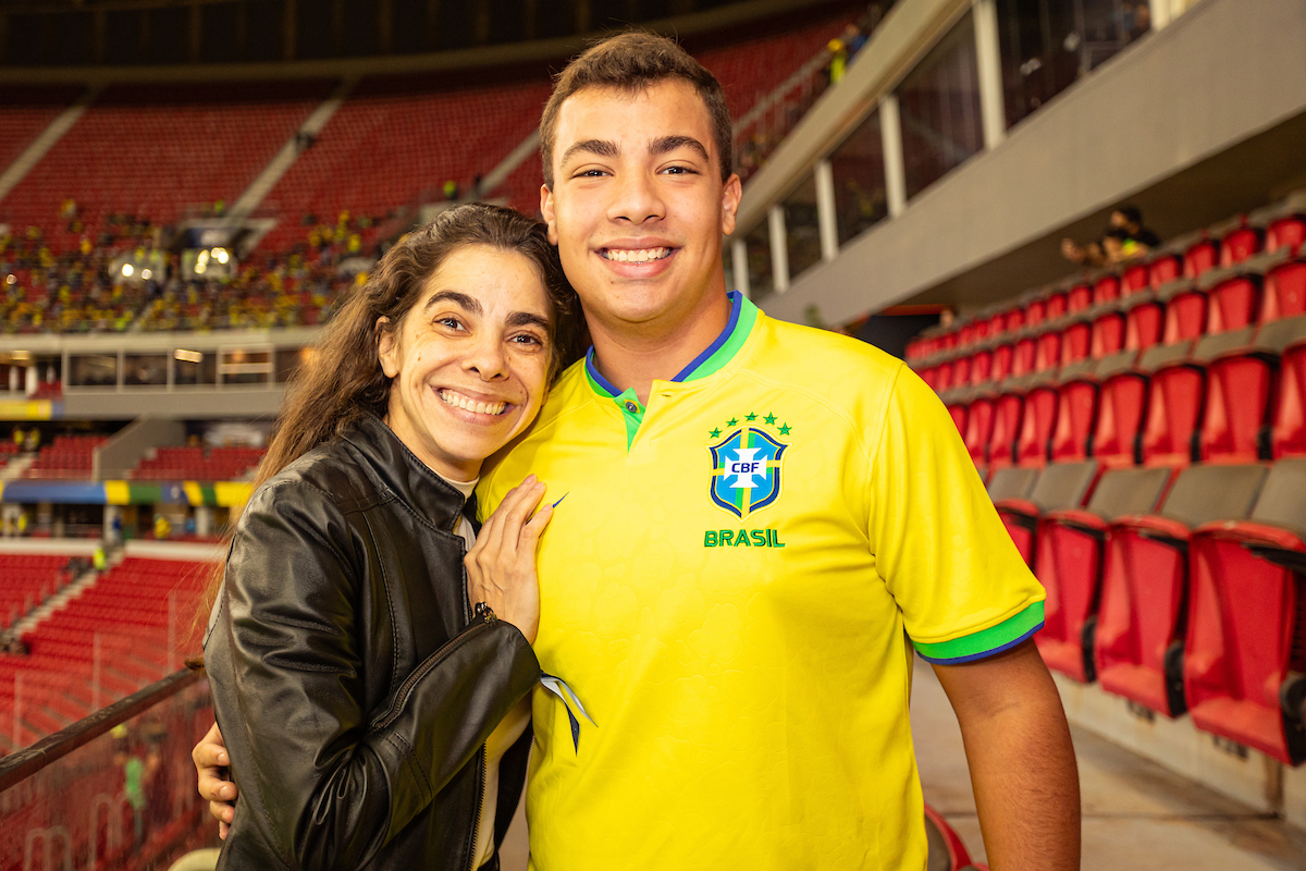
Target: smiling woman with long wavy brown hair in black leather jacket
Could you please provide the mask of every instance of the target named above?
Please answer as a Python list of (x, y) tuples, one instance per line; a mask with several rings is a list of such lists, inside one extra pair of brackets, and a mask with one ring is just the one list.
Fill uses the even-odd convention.
[(205, 632), (226, 742), (208, 764), (235, 781), (205, 797), (240, 795), (219, 868), (496, 866), (551, 508), (528, 478), (477, 538), (466, 503), (581, 332), (545, 227), (485, 205), (401, 240), (330, 323)]

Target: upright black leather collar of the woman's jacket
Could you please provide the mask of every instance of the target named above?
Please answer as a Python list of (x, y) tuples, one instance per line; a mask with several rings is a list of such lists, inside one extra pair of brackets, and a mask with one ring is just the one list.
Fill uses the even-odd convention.
[(453, 531), (465, 507), (462, 494), (418, 460), (384, 420), (368, 413), (342, 437), (363, 454), (384, 487), (427, 522)]

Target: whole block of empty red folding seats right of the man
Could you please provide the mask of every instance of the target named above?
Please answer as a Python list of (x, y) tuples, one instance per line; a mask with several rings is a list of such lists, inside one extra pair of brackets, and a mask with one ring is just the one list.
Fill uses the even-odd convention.
[(1224, 227), (926, 330), (908, 358), (1047, 589), (1047, 665), (1296, 765), (1303, 221)]

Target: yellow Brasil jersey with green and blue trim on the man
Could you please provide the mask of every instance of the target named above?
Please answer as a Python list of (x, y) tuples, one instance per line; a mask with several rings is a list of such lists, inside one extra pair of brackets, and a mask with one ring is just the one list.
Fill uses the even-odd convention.
[(482, 478), (564, 498), (535, 652), (538, 871), (923, 868), (912, 648), (963, 662), (1042, 626), (947, 410), (892, 356), (765, 317), (648, 407), (581, 360)]

